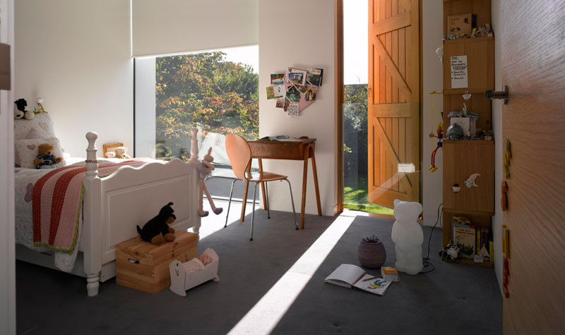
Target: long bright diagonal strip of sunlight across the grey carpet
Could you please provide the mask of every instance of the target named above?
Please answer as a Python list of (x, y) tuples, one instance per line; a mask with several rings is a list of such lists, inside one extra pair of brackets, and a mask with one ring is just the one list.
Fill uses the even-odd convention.
[(354, 219), (337, 217), (228, 334), (269, 334), (273, 331)]

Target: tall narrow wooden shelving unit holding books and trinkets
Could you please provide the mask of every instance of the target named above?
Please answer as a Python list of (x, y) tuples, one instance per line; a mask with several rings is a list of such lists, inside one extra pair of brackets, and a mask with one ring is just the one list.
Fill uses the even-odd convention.
[[(490, 0), (444, 0), (444, 35), (447, 35), (447, 17), (458, 14), (477, 15), (477, 28), (491, 23)], [(467, 56), (468, 87), (451, 88), (451, 56)], [(468, 91), (472, 97), (468, 110), (479, 114), (477, 129), (492, 130), (491, 102), (484, 91), (494, 90), (494, 37), (448, 39), (444, 41), (444, 129), (449, 124), (449, 111), (463, 107), (462, 95)], [(444, 227), (442, 245), (452, 238), (453, 216), (470, 219), (475, 227), (488, 227), (494, 215), (494, 140), (444, 140)], [(478, 188), (465, 187), (465, 180), (472, 173), (480, 173)], [(458, 183), (460, 192), (452, 186)], [(446, 260), (462, 264), (492, 267), (493, 262), (475, 263), (468, 258)]]

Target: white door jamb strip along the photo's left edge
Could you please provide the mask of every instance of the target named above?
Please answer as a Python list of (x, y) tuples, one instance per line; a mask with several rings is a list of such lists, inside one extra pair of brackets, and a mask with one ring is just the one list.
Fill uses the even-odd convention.
[[(0, 41), (13, 44), (13, 0), (0, 0)], [(6, 90), (0, 91), (0, 157), (4, 157), (0, 162), (0, 334), (16, 334), (13, 94), (12, 91)]]

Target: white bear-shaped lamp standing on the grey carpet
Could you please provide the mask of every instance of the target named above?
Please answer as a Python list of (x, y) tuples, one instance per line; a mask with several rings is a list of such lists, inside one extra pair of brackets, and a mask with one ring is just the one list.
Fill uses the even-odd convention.
[(392, 239), (395, 243), (396, 263), (394, 267), (400, 272), (418, 274), (424, 267), (422, 264), (422, 243), (424, 233), (416, 219), (422, 212), (419, 202), (394, 200), (394, 217)]

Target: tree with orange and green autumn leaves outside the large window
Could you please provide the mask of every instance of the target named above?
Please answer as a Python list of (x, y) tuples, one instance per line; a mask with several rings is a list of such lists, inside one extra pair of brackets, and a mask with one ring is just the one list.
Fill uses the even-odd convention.
[(179, 157), (190, 147), (190, 129), (258, 136), (258, 75), (251, 66), (225, 61), (222, 51), (156, 60), (157, 157)]

